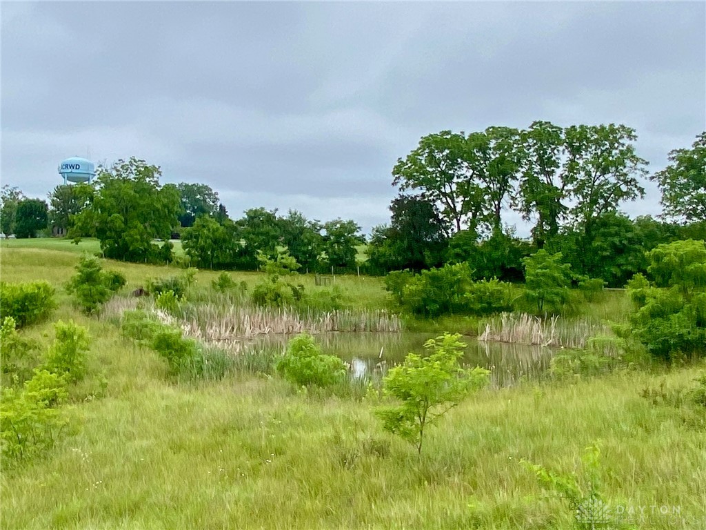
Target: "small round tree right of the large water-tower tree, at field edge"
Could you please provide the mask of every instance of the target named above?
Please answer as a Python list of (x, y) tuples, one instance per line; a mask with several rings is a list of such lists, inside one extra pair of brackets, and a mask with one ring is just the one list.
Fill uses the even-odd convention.
[(233, 223), (221, 225), (213, 218), (196, 218), (181, 234), (181, 246), (192, 263), (201, 269), (232, 269), (241, 247)]

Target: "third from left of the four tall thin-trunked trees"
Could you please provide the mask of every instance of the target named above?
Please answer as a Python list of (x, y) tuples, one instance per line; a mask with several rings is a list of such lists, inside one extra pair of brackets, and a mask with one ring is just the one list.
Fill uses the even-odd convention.
[(521, 133), (522, 176), (515, 206), (525, 220), (536, 218), (532, 238), (537, 248), (556, 237), (566, 213), (566, 182), (562, 179), (564, 131), (551, 122), (533, 122)]

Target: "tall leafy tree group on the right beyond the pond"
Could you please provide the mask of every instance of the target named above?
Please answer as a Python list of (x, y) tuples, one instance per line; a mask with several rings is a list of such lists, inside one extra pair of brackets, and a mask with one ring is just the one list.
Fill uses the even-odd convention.
[[(620, 209), (645, 195), (636, 139), (625, 125), (550, 122), (424, 136), (393, 168), (400, 195), (390, 223), (373, 229), (368, 268), (467, 262), (477, 279), (522, 281), (522, 259), (546, 249), (576, 274), (622, 287), (659, 243), (706, 239), (706, 133), (650, 175), (662, 192), (661, 218), (630, 219)], [(529, 240), (503, 223), (508, 211), (532, 223)]]

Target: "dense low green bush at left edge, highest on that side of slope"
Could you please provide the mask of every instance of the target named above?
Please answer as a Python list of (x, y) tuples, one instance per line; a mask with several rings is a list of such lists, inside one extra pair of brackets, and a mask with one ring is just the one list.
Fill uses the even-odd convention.
[(54, 288), (46, 281), (0, 282), (0, 320), (15, 319), (18, 328), (40, 322), (52, 313)]

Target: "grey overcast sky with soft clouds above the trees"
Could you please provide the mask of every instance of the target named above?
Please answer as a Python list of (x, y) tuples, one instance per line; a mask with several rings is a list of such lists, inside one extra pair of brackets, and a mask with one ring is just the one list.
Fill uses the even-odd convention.
[[(706, 129), (706, 3), (61, 3), (2, 11), (2, 183), (135, 155), (265, 206), (390, 218), (443, 129), (624, 123), (650, 171)], [(659, 213), (659, 193), (627, 204)], [(516, 216), (506, 220), (514, 223)], [(520, 226), (520, 234), (527, 232)]]

